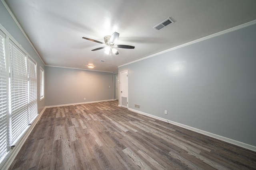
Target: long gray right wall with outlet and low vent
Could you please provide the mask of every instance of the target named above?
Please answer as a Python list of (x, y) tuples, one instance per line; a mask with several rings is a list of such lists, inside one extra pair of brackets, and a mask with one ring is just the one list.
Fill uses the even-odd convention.
[(256, 24), (122, 70), (130, 108), (256, 146)]

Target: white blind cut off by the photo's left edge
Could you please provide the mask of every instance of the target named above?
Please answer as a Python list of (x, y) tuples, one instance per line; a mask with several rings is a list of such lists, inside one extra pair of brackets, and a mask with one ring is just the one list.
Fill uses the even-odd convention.
[(0, 160), (7, 152), (7, 85), (5, 35), (0, 31)]

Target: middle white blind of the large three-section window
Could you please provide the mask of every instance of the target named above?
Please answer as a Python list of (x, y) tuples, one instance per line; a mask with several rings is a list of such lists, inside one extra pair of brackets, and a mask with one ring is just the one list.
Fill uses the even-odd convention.
[(10, 42), (11, 143), (28, 127), (28, 73), (26, 55)]

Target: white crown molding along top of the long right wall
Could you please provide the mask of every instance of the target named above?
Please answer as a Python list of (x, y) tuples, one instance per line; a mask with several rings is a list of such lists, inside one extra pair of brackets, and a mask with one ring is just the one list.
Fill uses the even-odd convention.
[(159, 53), (156, 53), (156, 54), (153, 54), (153, 55), (144, 57), (144, 58), (142, 58), (142, 59), (138, 59), (138, 60), (135, 60), (135, 61), (131, 61), (131, 62), (129, 62), (129, 63), (126, 63), (126, 64), (122, 64), (122, 65), (118, 66), (118, 68), (119, 68), (119, 67), (122, 67), (122, 66), (126, 66), (126, 65), (128, 65), (128, 64), (136, 63), (136, 62), (138, 62), (138, 61), (142, 61), (142, 60), (145, 60), (145, 59), (154, 57), (154, 56), (156, 56), (156, 55), (160, 55), (160, 54), (163, 54), (163, 53), (167, 53), (167, 52), (169, 52), (169, 51), (173, 51), (173, 50), (179, 49), (179, 48), (181, 48), (181, 47), (185, 47), (185, 46), (188, 46), (188, 45), (191, 45), (191, 44), (194, 44), (194, 43), (198, 43), (198, 42), (204, 41), (204, 40), (206, 40), (206, 39), (210, 39), (210, 38), (213, 38), (213, 37), (216, 37), (216, 36), (219, 36), (219, 35), (223, 35), (223, 34), (225, 34), (225, 33), (229, 33), (229, 32), (232, 32), (232, 31), (235, 31), (235, 30), (244, 28), (244, 27), (248, 27), (248, 26), (254, 25), (254, 24), (256, 24), (256, 20), (253, 20), (253, 21), (244, 23), (244, 24), (242, 24), (242, 25), (238, 25), (238, 26), (236, 26), (236, 27), (232, 27), (232, 28), (230, 28), (230, 29), (226, 29), (226, 30), (224, 30), (224, 31), (220, 31), (220, 32), (218, 32), (218, 33), (214, 33), (214, 34), (212, 34), (212, 35), (208, 35), (208, 36), (206, 36), (206, 37), (203, 37), (203, 38), (200, 38), (200, 39), (197, 39), (197, 40), (194, 40), (194, 41), (190, 41), (190, 42), (185, 43), (185, 44), (182, 44), (182, 45), (178, 45), (178, 46), (176, 46), (176, 47), (167, 49), (167, 50), (165, 50), (165, 51), (161, 51), (161, 52), (159, 52)]

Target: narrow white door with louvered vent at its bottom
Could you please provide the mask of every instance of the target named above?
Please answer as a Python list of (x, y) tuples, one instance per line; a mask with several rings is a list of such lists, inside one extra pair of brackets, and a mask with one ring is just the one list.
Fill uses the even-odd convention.
[(121, 106), (128, 108), (128, 71), (121, 72)]

